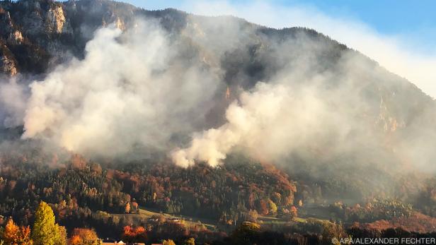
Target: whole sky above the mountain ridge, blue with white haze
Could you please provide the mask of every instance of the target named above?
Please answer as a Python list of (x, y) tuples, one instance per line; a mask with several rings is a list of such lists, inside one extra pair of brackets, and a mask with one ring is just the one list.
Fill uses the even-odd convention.
[(125, 0), (149, 10), (233, 15), (272, 28), (304, 26), (357, 49), (436, 98), (436, 1)]

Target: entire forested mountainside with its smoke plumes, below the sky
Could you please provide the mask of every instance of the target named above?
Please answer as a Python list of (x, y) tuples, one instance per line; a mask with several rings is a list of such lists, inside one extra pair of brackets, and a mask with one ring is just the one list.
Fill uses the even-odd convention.
[(435, 236), (435, 101), (316, 30), (21, 0), (0, 45), (0, 241)]

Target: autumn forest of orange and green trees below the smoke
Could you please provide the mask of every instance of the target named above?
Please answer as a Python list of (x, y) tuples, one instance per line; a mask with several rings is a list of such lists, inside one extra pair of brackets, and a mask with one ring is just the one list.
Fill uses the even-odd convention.
[[(82, 244), (74, 239), (79, 241), (77, 237), (86, 232), (94, 232), (96, 239), (147, 243), (172, 239), (177, 244), (189, 238), (198, 244), (241, 244), (241, 239), (248, 244), (328, 244), (332, 237), (348, 234), (435, 236), (429, 233), (436, 225), (436, 218), (428, 216), (434, 199), (429, 190), (435, 188), (431, 182), (413, 205), (396, 198), (326, 204), (324, 186), (318, 186), (319, 193), (307, 193), (297, 186), (283, 170), (241, 155), (232, 155), (221, 167), (185, 169), (168, 162), (115, 165), (80, 155), (62, 162), (38, 151), (4, 153), (0, 222), (6, 227), (4, 232), (11, 222), (21, 229), (35, 229), (35, 210), (45, 202), (55, 222), (66, 228), (71, 244)], [(141, 217), (141, 210), (157, 213)], [(193, 225), (195, 219), (205, 224)]]

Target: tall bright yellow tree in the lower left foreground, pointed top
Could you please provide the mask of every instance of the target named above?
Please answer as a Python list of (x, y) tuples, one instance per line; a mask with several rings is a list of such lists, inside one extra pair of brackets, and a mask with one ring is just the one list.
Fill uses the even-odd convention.
[(41, 202), (35, 212), (32, 239), (35, 245), (63, 245), (67, 244), (67, 231), (54, 222), (52, 208)]

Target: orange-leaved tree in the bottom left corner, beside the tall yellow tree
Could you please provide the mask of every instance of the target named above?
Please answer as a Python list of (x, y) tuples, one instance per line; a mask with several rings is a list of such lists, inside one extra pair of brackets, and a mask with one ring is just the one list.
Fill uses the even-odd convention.
[(32, 245), (33, 241), (30, 239), (30, 227), (18, 227), (13, 222), (12, 218), (6, 223), (4, 232), (1, 236), (4, 244), (20, 244), (20, 245)]

